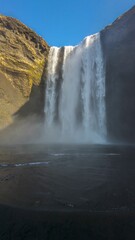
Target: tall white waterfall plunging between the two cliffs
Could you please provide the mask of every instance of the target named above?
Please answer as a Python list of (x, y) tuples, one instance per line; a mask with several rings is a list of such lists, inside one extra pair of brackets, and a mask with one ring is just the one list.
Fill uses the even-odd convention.
[(48, 141), (105, 140), (105, 73), (99, 33), (75, 47), (51, 47), (45, 91)]

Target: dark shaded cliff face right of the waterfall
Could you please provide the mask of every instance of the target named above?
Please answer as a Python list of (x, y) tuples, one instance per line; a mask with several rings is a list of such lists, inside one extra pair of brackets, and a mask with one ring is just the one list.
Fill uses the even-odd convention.
[(110, 139), (135, 142), (135, 7), (101, 32)]

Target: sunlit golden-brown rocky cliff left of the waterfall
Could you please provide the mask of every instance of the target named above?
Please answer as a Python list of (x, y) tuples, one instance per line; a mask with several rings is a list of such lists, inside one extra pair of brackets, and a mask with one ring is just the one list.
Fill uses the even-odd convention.
[(20, 115), (42, 111), (48, 51), (34, 31), (14, 18), (0, 16), (0, 128), (11, 124), (17, 111)]

